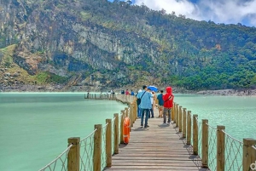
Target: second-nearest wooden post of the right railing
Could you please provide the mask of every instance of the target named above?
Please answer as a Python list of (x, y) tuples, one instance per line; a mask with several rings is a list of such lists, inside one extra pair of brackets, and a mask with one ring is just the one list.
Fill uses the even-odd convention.
[(225, 134), (222, 131), (224, 129), (224, 126), (217, 126), (217, 171), (225, 169)]

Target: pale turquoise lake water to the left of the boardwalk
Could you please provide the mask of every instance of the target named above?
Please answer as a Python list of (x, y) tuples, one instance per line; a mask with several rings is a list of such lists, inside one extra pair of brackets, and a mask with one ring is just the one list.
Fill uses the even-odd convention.
[(84, 94), (0, 94), (0, 170), (43, 168), (67, 148), (67, 138), (84, 139), (125, 107)]

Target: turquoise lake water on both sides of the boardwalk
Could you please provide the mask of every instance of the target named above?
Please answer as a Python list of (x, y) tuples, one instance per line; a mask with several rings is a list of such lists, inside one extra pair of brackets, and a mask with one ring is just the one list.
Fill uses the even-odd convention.
[[(256, 139), (256, 97), (175, 94), (175, 101), (212, 127), (224, 125), (236, 138)], [(126, 105), (84, 100), (84, 94), (0, 94), (0, 170), (34, 171), (67, 148), (67, 138), (83, 139), (94, 124), (105, 124)]]

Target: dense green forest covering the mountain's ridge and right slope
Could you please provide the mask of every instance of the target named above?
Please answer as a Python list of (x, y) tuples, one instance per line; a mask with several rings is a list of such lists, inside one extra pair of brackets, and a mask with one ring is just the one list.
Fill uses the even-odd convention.
[[(57, 8), (65, 16), (76, 16), (72, 20), (78, 23), (101, 27), (113, 35), (125, 33), (127, 37), (119, 41), (131, 47), (122, 52), (126, 55), (132, 54), (136, 46), (137, 38), (133, 37), (142, 37), (144, 44), (155, 44), (160, 54), (155, 56), (156, 61), (141, 56), (124, 64), (129, 73), (148, 71), (163, 84), (194, 90), (256, 88), (255, 27), (191, 20), (174, 12), (166, 14), (165, 9), (155, 11), (133, 5), (131, 1), (41, 0), (29, 8), (43, 9), (45, 14)], [(6, 38), (1, 38), (4, 47)]]

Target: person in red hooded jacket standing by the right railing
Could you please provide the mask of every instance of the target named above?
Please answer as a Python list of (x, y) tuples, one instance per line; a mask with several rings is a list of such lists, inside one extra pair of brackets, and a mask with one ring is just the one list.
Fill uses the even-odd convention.
[(168, 113), (168, 124), (171, 123), (171, 111), (173, 106), (174, 95), (172, 94), (172, 87), (166, 88), (166, 94), (163, 95), (164, 100), (164, 124), (166, 124), (166, 113)]

